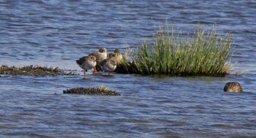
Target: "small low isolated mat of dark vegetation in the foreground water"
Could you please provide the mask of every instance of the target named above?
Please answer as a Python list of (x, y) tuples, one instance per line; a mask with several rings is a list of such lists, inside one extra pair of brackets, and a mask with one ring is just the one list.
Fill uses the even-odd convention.
[(120, 96), (119, 93), (116, 93), (116, 91), (108, 89), (108, 87), (103, 86), (103, 84), (101, 84), (99, 88), (93, 88), (92, 86), (88, 86), (88, 88), (72, 88), (72, 89), (63, 90), (63, 93), (100, 95), (100, 96), (109, 96), (109, 95)]

